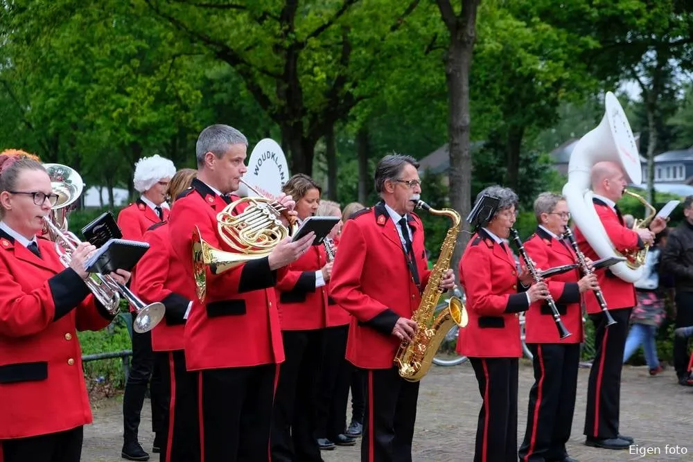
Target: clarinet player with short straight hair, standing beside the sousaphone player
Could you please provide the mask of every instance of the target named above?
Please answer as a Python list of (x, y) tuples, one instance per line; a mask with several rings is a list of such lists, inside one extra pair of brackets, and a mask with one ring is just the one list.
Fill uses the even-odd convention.
[[(538, 227), (525, 242), (536, 267), (575, 263), (577, 256), (563, 239), (570, 213), (563, 196), (541, 193), (534, 201)], [(597, 276), (580, 277), (579, 269), (557, 274), (546, 283), (565, 328), (572, 335), (561, 339), (546, 303), (532, 303), (525, 314), (525, 342), (534, 355), (534, 385), (529, 391), (527, 429), (520, 445), (520, 461), (573, 462), (565, 449), (575, 409), (577, 371), (582, 328), (581, 294), (598, 288)]]

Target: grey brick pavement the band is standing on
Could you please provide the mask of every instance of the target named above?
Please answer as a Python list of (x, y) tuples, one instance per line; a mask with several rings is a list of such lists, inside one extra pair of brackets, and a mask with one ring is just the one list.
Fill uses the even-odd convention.
[[(673, 368), (650, 377), (646, 367), (624, 367), (621, 387), (621, 432), (635, 438), (632, 451), (598, 450), (583, 444), (585, 396), (589, 370), (579, 373), (576, 411), (568, 453), (581, 462), (693, 461), (693, 387), (676, 383)], [(520, 364), (518, 441), (527, 420), (527, 394), (532, 367)], [(414, 461), (448, 462), (473, 459), (476, 421), (481, 398), (470, 364), (433, 366), (421, 382), (414, 434)], [(85, 427), (82, 461), (118, 462), (123, 441), (120, 396), (94, 404), (94, 425)], [(153, 440), (149, 402), (143, 409), (140, 442), (145, 450)], [(678, 454), (666, 454), (678, 445)], [(656, 451), (638, 454), (638, 449)], [(685, 451), (685, 454), (682, 454)], [(325, 462), (360, 461), (358, 445), (323, 452)], [(152, 460), (158, 460), (152, 458)]]

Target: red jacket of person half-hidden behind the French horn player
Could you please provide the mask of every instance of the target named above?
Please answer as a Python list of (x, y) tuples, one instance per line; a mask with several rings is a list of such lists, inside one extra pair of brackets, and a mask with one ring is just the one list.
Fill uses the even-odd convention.
[[(166, 316), (152, 330), (152, 350), (173, 351), (183, 349), (185, 312), (195, 292), (180, 294), (170, 287), (182, 290), (191, 287), (186, 278), (184, 264), (173, 254), (168, 238), (168, 222), (153, 225), (144, 233), (149, 250), (137, 263), (137, 294), (145, 303), (160, 301), (166, 306)], [(188, 262), (186, 262), (188, 263)]]

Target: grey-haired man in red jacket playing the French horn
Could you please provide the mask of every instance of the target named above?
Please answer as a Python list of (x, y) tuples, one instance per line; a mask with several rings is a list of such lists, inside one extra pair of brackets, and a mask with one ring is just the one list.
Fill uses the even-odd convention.
[[(168, 231), (176, 259), (184, 265), (180, 294), (195, 291), (192, 235), (195, 226), (209, 245), (236, 253), (218, 234), (217, 215), (238, 197), (247, 139), (228, 125), (211, 125), (195, 148), (198, 177), (178, 197)], [(285, 195), (278, 201), (292, 210)], [(291, 212), (295, 214), (295, 212)], [(200, 460), (265, 461), (270, 457), (270, 420), (279, 364), (284, 360), (274, 285), (313, 244), (315, 233), (280, 242), (265, 258), (256, 258), (213, 274), (207, 269), (207, 295), (196, 296), (184, 334), (188, 371), (198, 376)]]

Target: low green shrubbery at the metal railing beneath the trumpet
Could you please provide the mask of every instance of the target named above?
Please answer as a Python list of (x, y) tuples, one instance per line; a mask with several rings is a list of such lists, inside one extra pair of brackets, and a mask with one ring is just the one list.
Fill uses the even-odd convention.
[[(126, 326), (128, 321), (125, 321), (125, 317), (130, 317), (127, 311), (116, 317), (105, 329), (78, 332), (82, 355), (132, 350), (132, 341)], [(87, 388), (91, 391), (110, 393), (113, 389), (122, 389), (125, 386), (123, 361), (120, 358), (90, 361), (84, 363), (84, 370)]]

